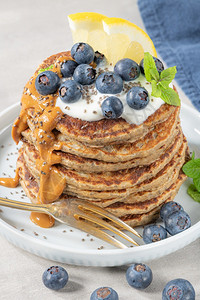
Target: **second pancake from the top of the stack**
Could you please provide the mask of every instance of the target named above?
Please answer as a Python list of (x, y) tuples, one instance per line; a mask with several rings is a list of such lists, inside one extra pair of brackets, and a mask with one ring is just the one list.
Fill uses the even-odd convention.
[[(101, 145), (101, 147), (88, 147), (78, 141), (70, 141), (61, 133), (56, 133), (58, 142), (61, 142), (61, 151), (75, 154), (79, 157), (93, 158), (106, 162), (128, 161), (134, 158), (158, 157), (164, 152), (176, 134), (178, 111), (175, 111), (165, 122), (158, 124), (143, 138), (134, 143), (115, 145)], [(26, 141), (36, 146), (34, 138), (34, 126), (22, 132)], [(156, 153), (157, 152), (157, 153)], [(157, 156), (156, 156), (157, 155)]]

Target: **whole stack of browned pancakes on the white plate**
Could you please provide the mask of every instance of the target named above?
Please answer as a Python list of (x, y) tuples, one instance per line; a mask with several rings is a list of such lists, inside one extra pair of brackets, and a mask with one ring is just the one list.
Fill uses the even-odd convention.
[[(53, 152), (60, 157), (53, 167), (66, 182), (60, 197), (86, 199), (131, 226), (155, 220), (186, 179), (181, 168), (188, 147), (179, 112), (179, 107), (163, 104), (141, 125), (122, 118), (89, 122), (64, 114), (53, 129)], [(23, 189), (38, 202), (40, 151), (33, 115), (30, 110), (28, 128), (21, 132), (17, 166)]]

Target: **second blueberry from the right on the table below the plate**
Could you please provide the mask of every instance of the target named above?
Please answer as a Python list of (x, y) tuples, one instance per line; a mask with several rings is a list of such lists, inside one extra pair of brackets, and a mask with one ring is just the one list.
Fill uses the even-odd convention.
[(133, 264), (126, 271), (128, 284), (136, 289), (147, 288), (153, 279), (151, 269), (145, 264)]

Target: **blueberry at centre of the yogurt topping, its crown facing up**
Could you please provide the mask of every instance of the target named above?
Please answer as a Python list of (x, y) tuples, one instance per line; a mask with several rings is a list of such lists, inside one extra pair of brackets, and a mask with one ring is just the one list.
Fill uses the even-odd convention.
[(113, 72), (105, 72), (97, 77), (96, 88), (103, 94), (118, 94), (123, 89), (123, 80)]

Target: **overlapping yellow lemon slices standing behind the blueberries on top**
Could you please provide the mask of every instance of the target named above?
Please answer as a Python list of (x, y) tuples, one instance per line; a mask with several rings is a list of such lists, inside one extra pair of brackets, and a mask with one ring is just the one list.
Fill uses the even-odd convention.
[(85, 42), (103, 53), (114, 65), (122, 58), (140, 63), (144, 52), (157, 57), (148, 34), (137, 25), (121, 18), (108, 18), (98, 13), (77, 13), (68, 16), (73, 42)]

